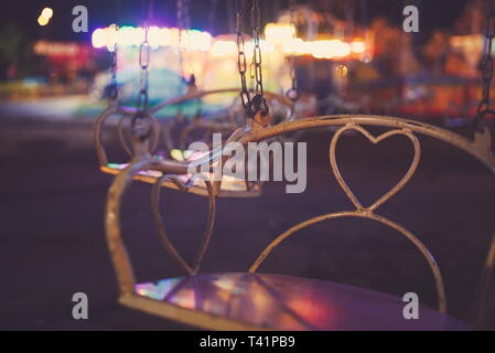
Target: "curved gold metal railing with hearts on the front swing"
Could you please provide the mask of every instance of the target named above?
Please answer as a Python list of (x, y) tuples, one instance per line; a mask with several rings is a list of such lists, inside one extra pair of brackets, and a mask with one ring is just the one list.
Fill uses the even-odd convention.
[[(249, 271), (255, 272), (259, 266), (263, 263), (263, 260), (271, 254), (271, 252), (281, 244), (284, 239), (293, 235), (295, 232), (305, 228), (310, 225), (326, 221), (326, 220), (334, 220), (338, 217), (361, 217), (361, 218), (367, 218), (375, 222), (379, 222), (381, 224), (385, 224), (397, 232), (399, 232), (401, 235), (403, 235), (406, 238), (408, 238), (423, 255), (426, 260), (428, 261), (430, 269), (432, 271), (434, 284), (437, 288), (437, 295), (438, 295), (438, 308), (441, 312), (446, 312), (446, 296), (445, 290), (443, 287), (443, 280), (440, 272), (440, 269), (437, 265), (437, 261), (434, 260), (432, 254), (428, 250), (428, 248), (418, 239), (416, 235), (407, 231), (401, 225), (395, 223), (391, 220), (388, 220), (386, 217), (383, 217), (376, 213), (379, 206), (381, 206), (384, 203), (386, 203), (388, 200), (390, 200), (392, 196), (395, 196), (401, 189), (403, 189), (407, 183), (410, 181), (412, 175), (415, 174), (418, 164), (420, 162), (421, 158), (421, 149), (420, 149), (420, 142), (417, 138), (417, 133), (419, 135), (426, 135), (429, 137), (433, 137), (438, 140), (444, 141), (446, 143), (450, 143), (456, 148), (460, 148), (461, 150), (464, 150), (465, 152), (470, 153), (474, 158), (476, 158), (478, 161), (481, 161), (486, 168), (488, 168), (492, 173), (495, 173), (495, 157), (492, 153), (492, 143), (491, 143), (491, 132), (488, 128), (484, 128), (482, 131), (477, 131), (475, 133), (474, 139), (470, 139), (463, 136), (460, 136), (458, 133), (454, 133), (452, 131), (442, 129), (440, 127), (431, 126), (423, 122), (418, 122), (413, 120), (408, 119), (400, 119), (400, 118), (394, 118), (394, 117), (381, 117), (381, 116), (365, 116), (365, 115), (344, 115), (344, 116), (325, 116), (325, 117), (315, 117), (315, 118), (308, 118), (303, 120), (293, 120), (293, 121), (287, 121), (281, 122), (277, 126), (269, 126), (266, 128), (262, 128), (258, 131), (252, 132), (246, 132), (246, 133), (238, 133), (238, 136), (235, 138), (236, 141), (246, 145), (248, 142), (258, 142), (262, 141), (269, 138), (273, 138), (287, 132), (293, 132), (299, 130), (308, 130), (308, 129), (314, 129), (314, 128), (322, 128), (322, 127), (330, 127), (330, 126), (340, 126), (341, 128), (334, 133), (329, 156), (330, 156), (330, 165), (331, 169), (341, 186), (341, 189), (344, 191), (344, 193), (347, 195), (347, 197), (351, 200), (352, 204), (355, 206), (355, 210), (353, 211), (343, 211), (337, 213), (330, 213), (330, 214), (323, 214), (321, 216), (316, 216), (313, 218), (310, 218), (308, 221), (301, 222), (287, 232), (282, 233), (278, 237), (275, 238), (266, 248), (265, 250), (259, 255), (257, 260), (254, 263), (254, 265), (250, 267)], [(366, 130), (363, 126), (378, 126), (378, 127), (385, 127), (390, 128), (387, 132), (375, 137), (373, 136), (368, 130)], [(348, 130), (354, 130), (363, 136), (365, 136), (372, 143), (379, 143), (380, 141), (396, 135), (401, 135), (407, 137), (412, 147), (413, 147), (413, 158), (410, 162), (409, 169), (403, 175), (403, 178), (392, 188), (390, 189), (385, 195), (379, 197), (377, 201), (375, 201), (370, 205), (363, 205), (362, 202), (358, 200), (358, 197), (353, 193), (351, 188), (347, 185), (345, 180), (343, 179), (338, 165), (337, 160), (335, 157), (335, 148), (338, 143), (340, 137)], [(212, 164), (215, 161), (217, 161), (222, 157), (222, 152), (217, 151), (216, 153), (211, 153), (208, 157), (205, 157), (202, 163)], [(170, 175), (170, 174), (184, 174), (187, 172), (187, 164), (168, 164), (163, 163), (158, 160), (153, 160), (152, 158), (144, 157), (142, 159), (134, 159), (127, 168), (123, 170), (120, 174), (118, 174), (110, 188), (108, 199), (107, 199), (107, 207), (106, 207), (106, 232), (107, 232), (107, 240), (110, 248), (110, 254), (112, 258), (112, 263), (117, 272), (119, 286), (120, 286), (120, 292), (122, 296), (129, 296), (133, 293), (133, 287), (136, 285), (134, 277), (132, 274), (132, 265), (127, 256), (126, 248), (123, 246), (122, 239), (121, 239), (121, 232), (120, 232), (120, 204), (122, 200), (122, 194), (126, 191), (127, 186), (131, 182), (131, 180), (139, 174), (142, 170), (154, 170), (159, 171), (162, 174)], [(170, 176), (166, 176), (170, 178)], [(215, 188), (215, 184), (217, 185), (217, 181), (212, 181), (211, 186)], [(184, 186), (185, 188), (185, 186)], [(212, 189), (209, 189), (212, 190)], [(213, 197), (211, 200), (214, 200), (215, 194), (213, 193)], [(157, 206), (158, 210), (158, 206)], [(208, 217), (208, 225), (207, 231), (213, 228), (213, 220), (215, 217), (215, 211), (213, 206), (212, 212), (212, 203), (211, 203), (211, 213)], [(158, 211), (155, 211), (158, 212)], [(155, 217), (157, 218), (157, 217)], [(200, 252), (206, 250), (208, 239), (211, 237), (209, 235), (205, 235), (206, 240), (203, 240), (203, 246)], [(177, 261), (181, 263), (181, 259), (177, 258), (173, 254), (173, 252), (169, 250), (171, 253), (172, 257)], [(201, 256), (200, 261), (196, 264), (194, 269), (198, 269), (198, 266), (201, 265)], [(485, 268), (482, 276), (482, 282), (478, 289), (478, 296), (477, 296), (477, 302), (476, 302), (476, 315), (477, 319), (481, 320), (482, 313), (484, 312), (484, 307), (487, 301), (487, 292), (489, 289), (489, 284), (493, 275), (493, 268), (495, 264), (495, 237), (492, 240), (492, 244), (489, 246), (486, 260), (485, 260)], [(180, 264), (181, 265), (181, 264)], [(186, 269), (185, 266), (182, 267)], [(191, 272), (195, 272), (193, 268)]]

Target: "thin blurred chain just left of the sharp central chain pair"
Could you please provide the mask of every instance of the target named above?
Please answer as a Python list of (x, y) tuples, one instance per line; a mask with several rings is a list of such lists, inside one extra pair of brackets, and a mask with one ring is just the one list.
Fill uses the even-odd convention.
[(184, 49), (183, 49), (183, 35), (185, 32), (186, 35), (186, 51), (189, 52), (187, 61), (191, 61), (191, 15), (190, 15), (190, 0), (177, 0), (177, 29), (179, 29), (179, 66), (180, 66), (180, 75), (182, 79), (187, 84), (187, 86), (195, 85), (195, 75), (194, 69), (191, 65), (190, 67), (190, 77), (186, 78), (186, 74), (184, 71)]

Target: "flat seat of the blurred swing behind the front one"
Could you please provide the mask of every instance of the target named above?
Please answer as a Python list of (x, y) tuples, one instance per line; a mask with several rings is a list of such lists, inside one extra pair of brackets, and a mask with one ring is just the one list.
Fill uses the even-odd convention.
[[(100, 171), (107, 174), (117, 175), (122, 171), (128, 163), (108, 163), (107, 165), (101, 165)], [(134, 175), (134, 180), (154, 184), (157, 183), (157, 180), (162, 176), (162, 173), (154, 170), (143, 170), (140, 171), (137, 175)], [(212, 176), (209, 173), (206, 173), (207, 178)], [(177, 178), (183, 182), (186, 183), (189, 180), (189, 176), (186, 174), (177, 175)], [(173, 189), (179, 190), (177, 185), (173, 183), (170, 180), (165, 180), (161, 184), (162, 188), (166, 189)], [(192, 193), (200, 196), (208, 196), (208, 190), (206, 188), (205, 182), (203, 179), (196, 179), (194, 180), (194, 183), (185, 191), (187, 193)], [(222, 199), (232, 199), (232, 197), (258, 197), (261, 195), (261, 185), (260, 184), (252, 184), (247, 185), (246, 181), (237, 179), (232, 175), (223, 175), (222, 176), (222, 183), (220, 189), (218, 190), (218, 193), (216, 194), (216, 197)]]

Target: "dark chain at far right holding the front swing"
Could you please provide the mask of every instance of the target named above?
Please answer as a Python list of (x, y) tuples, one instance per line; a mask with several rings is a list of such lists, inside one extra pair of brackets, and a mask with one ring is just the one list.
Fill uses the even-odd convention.
[(487, 115), (495, 117), (495, 109), (491, 107), (491, 90), (494, 73), (494, 58), (492, 55), (493, 39), (495, 38), (495, 10), (492, 1), (488, 0), (488, 11), (486, 13), (485, 22), (485, 56), (482, 61), (482, 81), (483, 94), (480, 105), (476, 110), (474, 124), (478, 128)]

